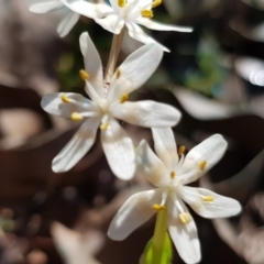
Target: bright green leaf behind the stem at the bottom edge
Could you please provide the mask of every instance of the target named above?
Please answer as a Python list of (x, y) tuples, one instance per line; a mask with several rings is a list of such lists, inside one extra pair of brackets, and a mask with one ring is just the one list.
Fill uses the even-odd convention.
[[(153, 260), (153, 238), (147, 242), (145, 250), (140, 258), (140, 264), (153, 264), (155, 261)], [(172, 250), (172, 241), (166, 232), (165, 241), (162, 250), (162, 257), (160, 264), (170, 264), (173, 258), (173, 250)]]

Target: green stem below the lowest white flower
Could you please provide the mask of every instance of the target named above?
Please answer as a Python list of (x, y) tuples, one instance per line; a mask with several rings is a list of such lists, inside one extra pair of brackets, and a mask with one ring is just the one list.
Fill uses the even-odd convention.
[(157, 212), (153, 235), (153, 257), (151, 264), (161, 264), (167, 231), (167, 207)]

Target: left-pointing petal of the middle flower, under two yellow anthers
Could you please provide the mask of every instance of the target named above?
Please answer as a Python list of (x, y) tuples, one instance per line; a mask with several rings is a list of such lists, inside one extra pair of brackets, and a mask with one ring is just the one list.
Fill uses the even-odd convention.
[[(77, 101), (77, 103), (63, 102), (61, 99), (62, 95), (65, 95), (67, 98)], [(46, 112), (64, 118), (70, 118), (73, 112), (90, 112), (90, 117), (97, 113), (97, 106), (92, 101), (79, 94), (74, 92), (55, 92), (46, 95), (42, 98), (41, 106)]]

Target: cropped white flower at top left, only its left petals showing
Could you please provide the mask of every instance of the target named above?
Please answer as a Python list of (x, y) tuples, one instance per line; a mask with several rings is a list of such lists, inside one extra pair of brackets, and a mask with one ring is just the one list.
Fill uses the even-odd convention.
[[(69, 6), (67, 1), (62, 0), (34, 0), (29, 6), (29, 10), (33, 13), (47, 13), (52, 11), (62, 10), (62, 21), (57, 26), (57, 32), (61, 37), (66, 36), (69, 31), (78, 22), (81, 12), (75, 12), (70, 10), (70, 7), (75, 9), (75, 2)], [(94, 4), (91, 2), (82, 1), (78, 3), (77, 10), (86, 8), (86, 16), (88, 18), (100, 18), (102, 13), (109, 11), (106, 4)]]

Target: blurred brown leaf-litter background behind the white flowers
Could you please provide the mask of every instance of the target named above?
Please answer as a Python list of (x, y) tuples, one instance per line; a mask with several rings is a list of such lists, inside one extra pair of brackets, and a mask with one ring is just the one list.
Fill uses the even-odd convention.
[[(30, 13), (25, 0), (0, 0), (0, 264), (135, 264), (155, 219), (123, 242), (106, 232), (124, 200), (148, 183), (114, 177), (98, 141), (70, 172), (51, 170), (77, 125), (44, 112), (41, 98), (84, 94), (80, 33), (89, 32), (105, 66), (111, 45), (111, 34), (87, 18), (59, 38), (62, 15)], [(263, 264), (264, 2), (164, 0), (154, 19), (195, 30), (148, 31), (172, 52), (131, 100), (177, 107), (183, 119), (174, 132), (187, 150), (223, 134), (228, 151), (199, 185), (243, 206), (232, 219), (194, 213), (201, 263)], [(139, 45), (127, 37), (120, 62)], [(122, 124), (135, 145), (143, 138), (153, 143), (148, 130)], [(173, 263), (183, 263), (175, 249)]]

